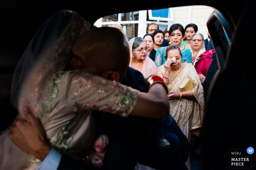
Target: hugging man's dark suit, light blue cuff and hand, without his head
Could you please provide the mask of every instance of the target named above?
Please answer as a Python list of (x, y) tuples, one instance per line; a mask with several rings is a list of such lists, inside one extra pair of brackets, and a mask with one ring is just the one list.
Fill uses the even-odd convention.
[[(148, 90), (143, 75), (132, 68), (128, 68), (127, 75), (121, 83), (143, 92)], [(42, 139), (44, 136), (42, 125), (38, 119), (33, 118), (33, 114), (29, 110), (25, 112), (30, 117), (31, 124), (25, 123), (26, 126), (17, 127), (16, 123), (24, 120), (15, 120), (12, 129), (16, 130), (12, 135), (12, 140), (15, 136), (19, 136), (19, 141), (23, 144), (23, 151), (27, 153), (33, 154), (35, 150), (36, 152), (39, 151), (41, 155), (38, 155), (37, 152), (38, 158), (40, 156), (41, 158), (44, 157), (38, 167), (39, 170), (49, 169), (49, 167), (52, 170), (90, 169), (84, 167), (82, 162), (60, 155), (54, 149), (46, 149), (47, 143), (44, 138)], [(101, 125), (110, 138), (109, 149), (103, 159), (103, 165), (99, 169), (133, 170), (137, 162), (155, 169), (187, 169), (185, 161), (187, 161), (189, 155), (190, 145), (187, 137), (182, 133), (171, 115), (163, 119), (163, 137), (170, 142), (168, 149), (159, 149), (155, 144), (158, 139), (162, 138), (162, 119), (133, 116), (122, 118), (100, 112), (94, 112), (93, 115), (97, 115), (94, 116), (96, 126)], [(30, 135), (27, 133), (17, 135), (20, 131), (24, 132), (26, 129), (30, 132)], [(39, 138), (41, 140), (37, 140), (38, 136), (41, 136)], [(15, 144), (17, 145), (17, 143)], [(24, 149), (24, 145), (27, 149)], [(31, 149), (32, 147), (33, 149)]]

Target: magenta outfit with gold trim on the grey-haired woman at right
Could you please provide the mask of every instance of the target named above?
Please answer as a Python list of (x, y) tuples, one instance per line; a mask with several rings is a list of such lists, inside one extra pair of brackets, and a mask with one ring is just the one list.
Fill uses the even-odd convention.
[(214, 49), (203, 52), (199, 56), (199, 60), (195, 64), (196, 72), (199, 75), (199, 78), (200, 78), (202, 84), (204, 84), (205, 76), (206, 76), (208, 68), (211, 64), (211, 56), (214, 52), (215, 52)]

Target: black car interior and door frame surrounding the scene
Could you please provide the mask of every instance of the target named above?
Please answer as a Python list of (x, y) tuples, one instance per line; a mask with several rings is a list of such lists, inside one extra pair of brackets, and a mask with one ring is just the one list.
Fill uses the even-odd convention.
[[(120, 5), (120, 1), (7, 1), (0, 2), (0, 131), (9, 127), (17, 110), (10, 103), (12, 74), (19, 58), (40, 25), (61, 9), (78, 12), (93, 24), (113, 13), (208, 5), (215, 8), (207, 21), (214, 44), (219, 74), (212, 82), (206, 100), (202, 126), (202, 169), (228, 169), (228, 150), (255, 148), (256, 114), (254, 26), (256, 1), (172, 1), (154, 4), (138, 0)], [(119, 5), (118, 5), (119, 4)], [(225, 32), (228, 36), (221, 37)], [(252, 33), (251, 33), (251, 30)], [(223, 35), (223, 34), (222, 34)], [(252, 167), (256, 167), (252, 157)]]

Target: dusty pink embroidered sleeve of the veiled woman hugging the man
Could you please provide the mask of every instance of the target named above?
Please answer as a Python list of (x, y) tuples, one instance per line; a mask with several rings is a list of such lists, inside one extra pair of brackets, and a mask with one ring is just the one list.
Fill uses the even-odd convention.
[(139, 98), (139, 91), (87, 72), (69, 72), (67, 102), (74, 111), (101, 110), (128, 116)]

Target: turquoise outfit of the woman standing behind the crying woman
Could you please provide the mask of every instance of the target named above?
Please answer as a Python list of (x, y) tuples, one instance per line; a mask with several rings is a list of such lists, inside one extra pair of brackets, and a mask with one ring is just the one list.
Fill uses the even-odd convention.
[[(166, 55), (166, 49), (167, 47), (160, 47), (157, 50), (157, 54), (155, 57), (155, 65), (157, 67), (163, 65), (166, 60), (165, 60), (165, 55)], [(192, 53), (188, 48), (184, 48), (183, 50), (181, 50), (181, 54), (182, 54), (182, 63), (192, 63)]]

